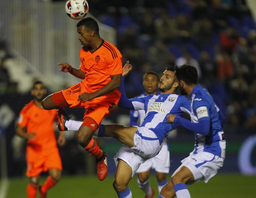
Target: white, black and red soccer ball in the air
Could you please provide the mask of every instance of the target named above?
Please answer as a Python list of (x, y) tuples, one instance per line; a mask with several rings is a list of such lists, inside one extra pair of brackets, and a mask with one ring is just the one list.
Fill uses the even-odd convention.
[(66, 2), (65, 10), (72, 19), (82, 19), (89, 11), (89, 5), (86, 0), (69, 0)]

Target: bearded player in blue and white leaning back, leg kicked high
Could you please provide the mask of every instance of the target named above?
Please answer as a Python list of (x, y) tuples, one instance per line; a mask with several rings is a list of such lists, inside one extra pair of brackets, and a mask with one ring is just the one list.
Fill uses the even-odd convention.
[[(127, 61), (123, 67), (123, 74), (127, 75), (131, 69), (132, 66)], [(95, 131), (95, 135), (99, 137), (114, 137), (124, 144), (114, 157), (117, 167), (113, 187), (119, 198), (132, 197), (128, 183), (136, 170), (141, 163), (159, 153), (165, 137), (176, 127), (176, 124), (167, 121), (167, 116), (170, 114), (180, 116), (184, 112), (190, 113), (190, 101), (185, 96), (174, 94), (178, 88), (174, 72), (174, 67), (166, 68), (163, 72), (158, 86), (161, 91), (159, 96), (150, 94), (142, 98), (128, 99), (124, 91), (124, 78), (122, 78), (122, 84), (119, 87), (121, 98), (118, 106), (131, 110), (145, 110), (146, 115), (142, 124), (140, 126), (100, 124)], [(67, 116), (60, 116), (63, 116), (63, 123), (67, 130), (77, 130), (70, 128), (70, 124), (73, 124), (69, 122)]]

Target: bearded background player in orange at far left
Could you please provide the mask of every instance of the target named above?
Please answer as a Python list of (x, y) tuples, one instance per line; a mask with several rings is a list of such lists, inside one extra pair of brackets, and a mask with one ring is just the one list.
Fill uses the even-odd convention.
[[(40, 187), (40, 198), (46, 197), (47, 190), (61, 178), (62, 164), (54, 133), (56, 110), (46, 111), (41, 105), (46, 91), (41, 81), (34, 83), (31, 90), (34, 100), (20, 111), (16, 127), (16, 134), (27, 139), (26, 175), (30, 178), (27, 186), (29, 198), (36, 197), (41, 172), (48, 171), (49, 176)], [(64, 145), (63, 132), (59, 132), (57, 142), (60, 146)]]

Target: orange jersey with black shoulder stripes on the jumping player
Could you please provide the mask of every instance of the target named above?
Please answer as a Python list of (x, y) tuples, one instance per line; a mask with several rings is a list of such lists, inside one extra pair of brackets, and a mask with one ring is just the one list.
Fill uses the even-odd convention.
[[(95, 92), (107, 85), (111, 81), (111, 75), (122, 74), (122, 54), (113, 44), (105, 40), (94, 52), (81, 48), (80, 60), (80, 69), (86, 73), (83, 83), (88, 93)], [(109, 96), (112, 99), (116, 98), (114, 103), (117, 104), (120, 92), (116, 89), (98, 99), (104, 100)]]

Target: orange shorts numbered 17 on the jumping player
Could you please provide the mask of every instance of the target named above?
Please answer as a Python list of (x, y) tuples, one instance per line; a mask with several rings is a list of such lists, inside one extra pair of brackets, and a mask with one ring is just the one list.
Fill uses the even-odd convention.
[(62, 106), (65, 102), (61, 98), (64, 97), (69, 108), (84, 107), (86, 111), (84, 113), (83, 119), (90, 117), (95, 120), (99, 126), (103, 118), (109, 114), (109, 109), (114, 107), (115, 103), (118, 102), (120, 98), (120, 92), (109, 93), (86, 102), (80, 102), (80, 100), (77, 101), (78, 96), (84, 92), (86, 92), (84, 83), (80, 82), (62, 90), (62, 95), (60, 95), (60, 92), (54, 93), (53, 100), (56, 105)]

